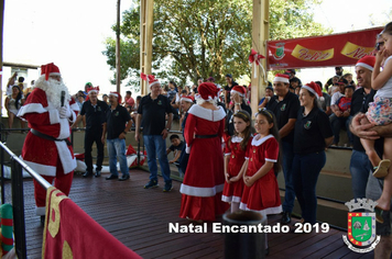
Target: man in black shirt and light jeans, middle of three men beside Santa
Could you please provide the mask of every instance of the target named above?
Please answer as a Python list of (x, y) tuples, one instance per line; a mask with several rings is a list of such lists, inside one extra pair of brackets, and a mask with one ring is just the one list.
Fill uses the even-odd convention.
[[(118, 92), (109, 93), (110, 108), (106, 112), (106, 123), (104, 124), (102, 143), (107, 133), (107, 146), (109, 153), (110, 176), (106, 180), (118, 179), (117, 157), (120, 162), (122, 177), (119, 181), (129, 179), (129, 168), (126, 156), (126, 137), (132, 126), (132, 119), (127, 108), (121, 106), (121, 95)], [(127, 126), (126, 126), (127, 124)]]

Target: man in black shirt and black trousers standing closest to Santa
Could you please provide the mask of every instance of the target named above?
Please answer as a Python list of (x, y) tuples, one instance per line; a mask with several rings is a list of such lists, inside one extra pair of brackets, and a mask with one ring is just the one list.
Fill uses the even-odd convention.
[(106, 111), (108, 104), (98, 100), (98, 88), (88, 88), (88, 101), (85, 101), (81, 105), (80, 114), (77, 115), (73, 127), (76, 127), (78, 122), (86, 119), (86, 132), (85, 132), (85, 164), (86, 172), (84, 178), (92, 176), (92, 144), (97, 145), (97, 168), (95, 177), (100, 177), (100, 170), (102, 169), (104, 161), (104, 143), (101, 140), (104, 123), (106, 122)]

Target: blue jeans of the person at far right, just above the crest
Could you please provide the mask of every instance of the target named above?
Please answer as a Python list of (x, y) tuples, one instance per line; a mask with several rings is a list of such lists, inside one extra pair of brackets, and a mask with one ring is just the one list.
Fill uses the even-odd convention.
[(371, 162), (364, 151), (352, 149), (350, 160), (351, 187), (353, 198), (366, 198), (366, 189), (369, 173), (371, 171)]

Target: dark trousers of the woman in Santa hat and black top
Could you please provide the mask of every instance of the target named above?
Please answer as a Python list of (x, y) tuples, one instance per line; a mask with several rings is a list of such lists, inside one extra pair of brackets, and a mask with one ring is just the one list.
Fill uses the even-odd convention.
[(294, 156), (293, 178), (296, 199), (302, 217), (306, 223), (315, 224), (317, 215), (316, 184), (319, 172), (326, 162), (325, 151)]

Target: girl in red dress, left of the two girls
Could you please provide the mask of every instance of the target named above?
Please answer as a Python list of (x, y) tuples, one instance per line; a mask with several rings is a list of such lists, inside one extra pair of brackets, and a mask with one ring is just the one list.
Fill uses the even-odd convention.
[(250, 114), (238, 111), (233, 117), (235, 135), (229, 137), (225, 148), (225, 188), (221, 200), (231, 203), (231, 212), (239, 210), (242, 191), (242, 168), (247, 148), (252, 142)]

